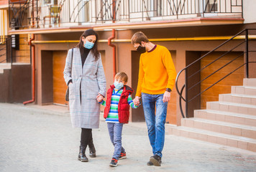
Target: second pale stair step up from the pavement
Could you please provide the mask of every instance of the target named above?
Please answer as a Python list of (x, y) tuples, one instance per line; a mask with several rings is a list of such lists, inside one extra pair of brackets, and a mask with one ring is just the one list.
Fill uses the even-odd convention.
[(210, 130), (216, 133), (256, 139), (256, 127), (249, 125), (239, 125), (216, 120), (206, 120), (202, 118), (183, 118), (181, 119), (181, 125), (189, 128), (198, 128)]

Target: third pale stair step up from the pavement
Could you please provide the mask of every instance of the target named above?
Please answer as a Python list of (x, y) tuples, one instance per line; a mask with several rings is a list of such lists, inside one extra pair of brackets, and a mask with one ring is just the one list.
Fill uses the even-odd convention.
[(195, 118), (202, 118), (206, 120), (217, 120), (226, 123), (237, 123), (241, 125), (250, 125), (256, 127), (256, 116), (245, 115), (239, 113), (229, 113), (219, 110), (195, 110)]

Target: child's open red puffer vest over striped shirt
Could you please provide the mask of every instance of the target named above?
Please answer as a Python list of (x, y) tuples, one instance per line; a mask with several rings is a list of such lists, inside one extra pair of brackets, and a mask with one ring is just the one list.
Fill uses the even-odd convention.
[[(114, 90), (114, 85), (110, 85), (108, 92), (106, 92), (106, 108), (104, 109), (104, 118), (107, 118), (110, 110), (111, 96)], [(119, 123), (129, 123), (129, 104), (128, 96), (132, 95), (132, 88), (124, 85), (124, 90), (120, 96), (118, 103), (118, 119)]]

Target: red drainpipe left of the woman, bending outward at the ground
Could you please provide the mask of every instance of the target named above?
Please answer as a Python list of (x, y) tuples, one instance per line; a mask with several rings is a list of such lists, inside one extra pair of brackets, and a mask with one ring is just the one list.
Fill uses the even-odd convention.
[(32, 51), (32, 100), (23, 102), (24, 105), (30, 102), (35, 102), (35, 45), (32, 44), (33, 40), (35, 40), (35, 34), (32, 34), (32, 38), (29, 39), (30, 49)]

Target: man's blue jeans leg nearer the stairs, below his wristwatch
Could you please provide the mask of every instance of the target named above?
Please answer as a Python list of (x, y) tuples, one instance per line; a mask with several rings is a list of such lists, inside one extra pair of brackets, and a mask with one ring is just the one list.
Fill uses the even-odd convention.
[(162, 157), (163, 145), (165, 143), (165, 120), (167, 114), (168, 102), (163, 102), (163, 95), (156, 97), (155, 113), (155, 153), (154, 155)]

